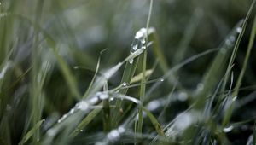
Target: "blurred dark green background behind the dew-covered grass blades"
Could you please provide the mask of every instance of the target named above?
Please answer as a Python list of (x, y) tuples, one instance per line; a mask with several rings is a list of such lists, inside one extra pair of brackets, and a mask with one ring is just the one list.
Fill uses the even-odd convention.
[[(95, 73), (102, 49), (107, 50), (102, 54), (101, 72), (129, 55), (135, 33), (146, 26), (149, 9), (148, 0), (0, 2), (1, 75), (5, 69), (5, 77), (0, 82), (0, 126), (1, 130), (4, 128), (2, 137), (5, 136), (4, 131), (12, 132), (10, 136), (5, 136), (10, 138), (11, 144), (18, 143), (31, 125), (28, 121), (31, 120), (30, 110), (33, 108), (28, 105), (31, 103), (31, 96), (44, 96), (41, 98), (44, 105), (38, 107), (42, 110), (43, 119), (55, 114), (60, 117), (77, 102), (58, 67), (51, 46), (46, 44), (44, 34), (40, 33), (41, 30), (53, 38), (58, 46), (57, 51), (67, 61), (76, 78), (79, 93), (83, 94)], [(226, 43), (225, 38), (245, 18), (251, 3), (251, 0), (154, 0), (150, 26), (156, 30), (168, 67), (172, 68), (192, 55)], [(255, 15), (255, 9), (252, 15)], [(252, 24), (253, 16), (248, 21), (238, 49), (234, 67), (235, 79), (241, 70)], [(214, 56), (214, 53), (205, 55), (179, 70), (176, 77), (181, 83), (180, 89), (191, 92), (196, 90)], [(253, 49), (242, 86), (255, 84), (255, 58), (256, 51)], [(148, 68), (153, 67), (155, 60), (153, 50), (148, 49)], [(74, 69), (76, 66), (83, 68)], [(33, 74), (38, 75), (35, 77)], [(153, 78), (160, 78), (163, 74), (161, 69), (156, 69)], [(119, 71), (109, 80), (109, 87), (119, 85), (121, 77), (122, 72)], [(151, 96), (164, 96), (172, 90), (172, 86), (164, 85)], [(131, 90), (130, 93), (136, 94), (136, 91)], [(242, 91), (241, 96), (247, 96), (251, 92), (252, 90)], [(173, 113), (162, 120), (162, 123), (172, 120), (188, 104), (178, 102), (177, 106), (170, 108), (174, 110)], [(235, 113), (234, 121), (251, 119), (255, 115), (255, 107), (250, 102), (247, 107)], [(5, 128), (6, 122), (9, 122), (9, 129)], [(251, 132), (251, 129), (244, 129), (245, 136), (235, 132), (229, 137), (234, 140), (233, 143), (245, 143)], [(241, 140), (237, 137), (240, 135)], [(239, 140), (237, 142), (236, 137)], [(0, 139), (0, 144), (2, 143), (6, 142)]]

